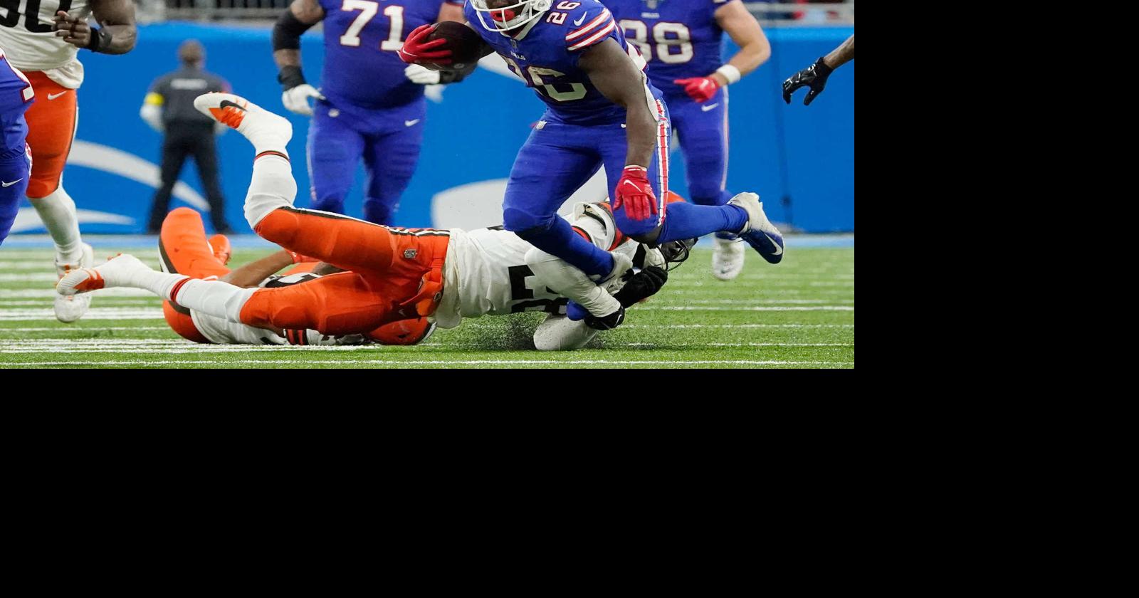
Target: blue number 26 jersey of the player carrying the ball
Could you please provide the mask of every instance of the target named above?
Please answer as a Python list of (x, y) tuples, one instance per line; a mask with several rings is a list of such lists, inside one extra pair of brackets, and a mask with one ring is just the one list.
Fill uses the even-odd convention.
[(609, 39), (629, 52), (639, 67), (645, 67), (640, 52), (625, 42), (609, 9), (600, 2), (557, 2), (515, 36), (509, 35), (514, 32), (487, 31), (494, 24), (470, 2), (464, 13), (507, 66), (549, 106), (544, 120), (583, 125), (624, 122), (625, 109), (603, 96), (577, 67), (585, 49)]

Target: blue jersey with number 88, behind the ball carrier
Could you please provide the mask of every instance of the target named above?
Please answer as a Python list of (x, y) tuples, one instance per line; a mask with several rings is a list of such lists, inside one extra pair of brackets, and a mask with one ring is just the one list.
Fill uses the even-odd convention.
[(685, 96), (677, 79), (707, 76), (723, 64), (718, 8), (738, 0), (605, 0), (625, 39), (648, 60), (648, 77), (665, 97)]

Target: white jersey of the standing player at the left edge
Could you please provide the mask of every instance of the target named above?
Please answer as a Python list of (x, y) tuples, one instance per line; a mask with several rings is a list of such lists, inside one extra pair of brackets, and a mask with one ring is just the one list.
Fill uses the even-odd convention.
[[(18, 5), (16, 8), (5, 8)], [(8, 0), (0, 5), (0, 47), (8, 62), (21, 71), (42, 71), (48, 79), (68, 89), (83, 83), (83, 64), (79, 48), (56, 36), (51, 31), (56, 11), (87, 19), (91, 15), (88, 0)]]

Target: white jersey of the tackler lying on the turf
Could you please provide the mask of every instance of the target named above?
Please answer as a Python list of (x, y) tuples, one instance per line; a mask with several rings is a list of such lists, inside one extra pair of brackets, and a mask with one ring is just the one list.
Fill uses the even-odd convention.
[[(613, 216), (592, 204), (579, 204), (573, 226), (589, 235), (603, 251), (613, 247)], [(568, 300), (547, 288), (526, 265), (534, 246), (501, 227), (465, 231), (450, 229), (443, 270), (443, 297), (434, 318), (440, 328), (454, 328), (462, 318), (503, 316), (523, 311), (565, 313)], [(637, 243), (625, 240), (613, 248), (632, 259)]]

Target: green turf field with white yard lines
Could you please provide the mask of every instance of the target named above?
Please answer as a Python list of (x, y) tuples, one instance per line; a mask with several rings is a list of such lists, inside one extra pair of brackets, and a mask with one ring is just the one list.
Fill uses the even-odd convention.
[[(133, 253), (157, 268), (154, 249)], [(0, 248), (2, 368), (853, 368), (854, 249), (795, 248), (782, 263), (748, 252), (738, 279), (710, 272), (711, 249), (670, 273), (657, 296), (629, 310), (590, 349), (540, 353), (531, 334), (544, 314), (484, 317), (439, 330), (418, 346), (267, 347), (199, 345), (162, 319), (162, 302), (136, 289), (96, 293), (72, 325), (51, 311), (48, 249)], [(237, 249), (230, 265), (268, 254)]]

